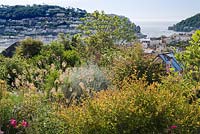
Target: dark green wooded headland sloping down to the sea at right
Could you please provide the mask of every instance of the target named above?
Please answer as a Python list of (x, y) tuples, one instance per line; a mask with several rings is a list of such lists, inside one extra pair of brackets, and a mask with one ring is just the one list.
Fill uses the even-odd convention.
[(196, 14), (195, 16), (182, 20), (181, 22), (170, 26), (168, 29), (177, 32), (190, 32), (200, 29), (200, 14)]

